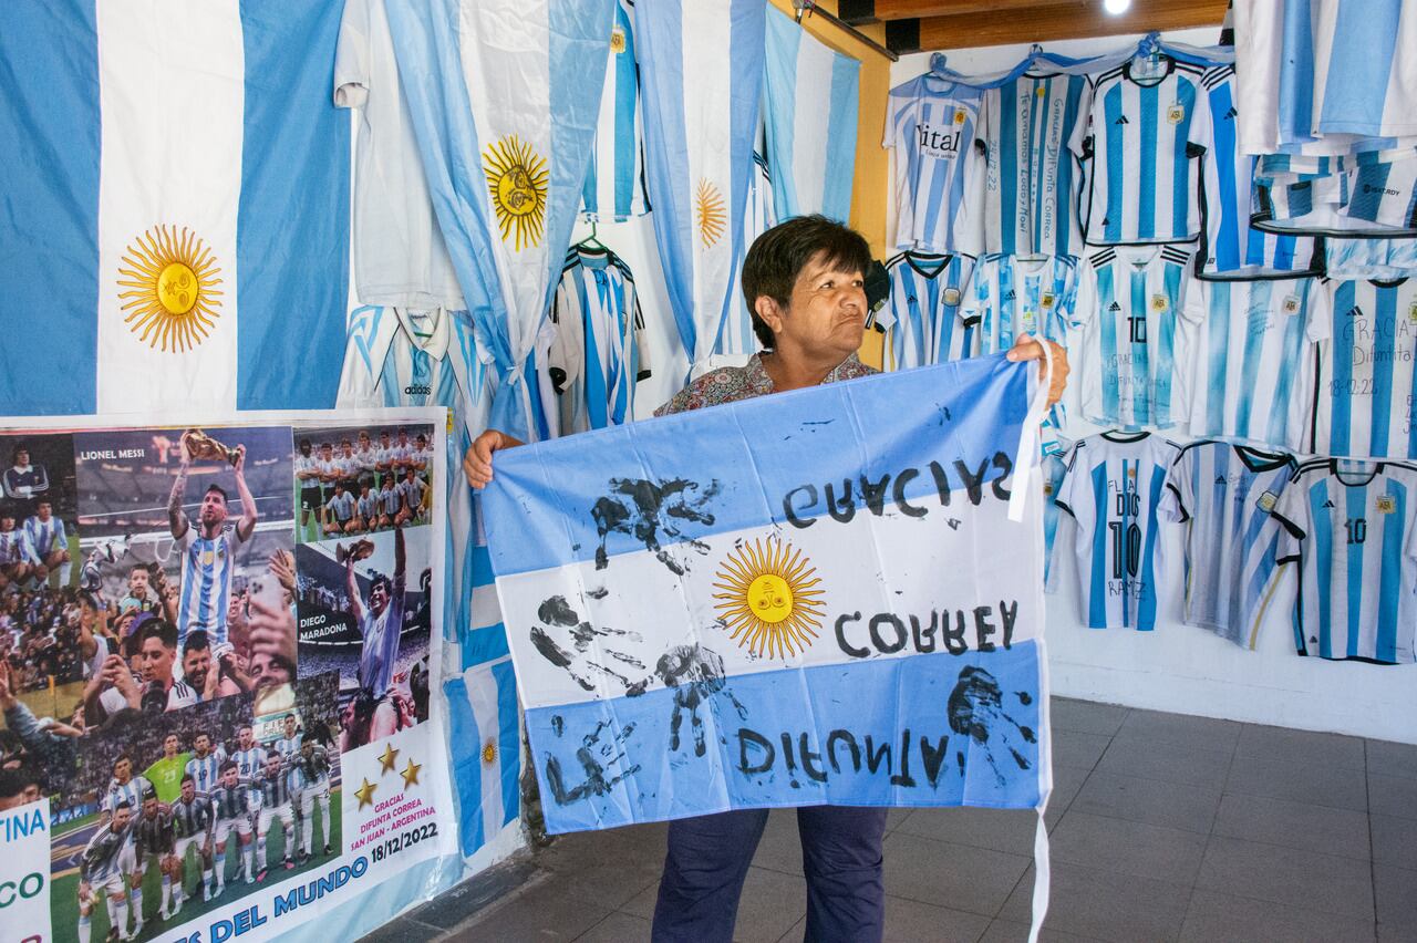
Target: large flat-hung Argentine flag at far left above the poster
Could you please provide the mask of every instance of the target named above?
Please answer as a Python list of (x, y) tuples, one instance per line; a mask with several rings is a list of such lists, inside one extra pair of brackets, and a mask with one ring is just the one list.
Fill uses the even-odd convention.
[(0, 4), (0, 413), (329, 406), (339, 4)]

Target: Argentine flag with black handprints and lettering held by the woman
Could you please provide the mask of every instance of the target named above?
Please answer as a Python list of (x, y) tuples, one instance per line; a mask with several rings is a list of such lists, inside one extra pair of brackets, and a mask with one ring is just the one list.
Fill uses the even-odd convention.
[(499, 456), (483, 507), (547, 830), (1034, 807), (1027, 370), (982, 357)]

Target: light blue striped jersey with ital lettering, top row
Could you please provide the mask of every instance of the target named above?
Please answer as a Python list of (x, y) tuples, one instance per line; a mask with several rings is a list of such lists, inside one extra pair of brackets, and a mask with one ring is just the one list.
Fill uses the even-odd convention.
[(930, 72), (891, 89), (881, 146), (894, 152), (896, 248), (979, 255), (982, 105), (983, 89)]

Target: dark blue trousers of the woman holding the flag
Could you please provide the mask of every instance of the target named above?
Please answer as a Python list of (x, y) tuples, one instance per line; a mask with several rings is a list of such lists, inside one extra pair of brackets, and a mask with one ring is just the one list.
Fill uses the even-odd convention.
[[(669, 854), (655, 905), (655, 943), (730, 943), (748, 865), (768, 821), (745, 808), (669, 823)], [(808, 943), (879, 943), (886, 923), (881, 876), (884, 808), (798, 808), (806, 875)]]

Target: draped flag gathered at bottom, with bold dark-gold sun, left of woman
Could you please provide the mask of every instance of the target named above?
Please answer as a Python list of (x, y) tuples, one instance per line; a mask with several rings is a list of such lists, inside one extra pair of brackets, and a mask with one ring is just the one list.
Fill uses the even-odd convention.
[(550, 344), (614, 11), (615, 0), (387, 6), (438, 224), (500, 374), (490, 422), (521, 439), (554, 432), (534, 362)]

